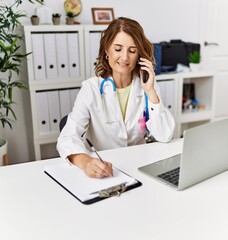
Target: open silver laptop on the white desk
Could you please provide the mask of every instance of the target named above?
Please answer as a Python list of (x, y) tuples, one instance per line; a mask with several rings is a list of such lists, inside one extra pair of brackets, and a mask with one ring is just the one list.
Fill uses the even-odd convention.
[(181, 154), (139, 171), (183, 190), (228, 170), (228, 118), (187, 129), (183, 138)]

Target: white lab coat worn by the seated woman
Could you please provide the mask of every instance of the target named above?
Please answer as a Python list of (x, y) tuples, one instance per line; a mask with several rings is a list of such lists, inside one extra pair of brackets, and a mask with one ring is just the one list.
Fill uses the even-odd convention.
[[(100, 151), (145, 143), (145, 132), (138, 120), (145, 111), (145, 96), (140, 79), (132, 81), (127, 112), (123, 120), (117, 93), (110, 82), (104, 84), (104, 94), (100, 94), (102, 78), (93, 77), (83, 81), (72, 112), (58, 138), (57, 150), (62, 158), (71, 154), (88, 153), (85, 138)], [(155, 89), (160, 98), (157, 83)], [(159, 104), (149, 103), (149, 120), (146, 125), (153, 137), (160, 142), (168, 142), (175, 127), (170, 111)]]

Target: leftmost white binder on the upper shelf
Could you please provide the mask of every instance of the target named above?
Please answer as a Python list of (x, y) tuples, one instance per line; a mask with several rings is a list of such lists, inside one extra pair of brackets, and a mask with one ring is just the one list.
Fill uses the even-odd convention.
[(34, 79), (42, 80), (46, 78), (43, 34), (32, 33), (31, 40)]

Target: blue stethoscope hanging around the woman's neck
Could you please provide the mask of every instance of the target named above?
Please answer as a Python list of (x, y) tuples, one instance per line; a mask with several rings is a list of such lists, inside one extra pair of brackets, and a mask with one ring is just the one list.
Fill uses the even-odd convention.
[[(107, 106), (107, 105), (105, 104), (105, 101), (104, 101), (104, 95), (105, 95), (105, 94), (104, 94), (104, 93), (105, 93), (105, 92), (104, 92), (104, 85), (105, 85), (105, 83), (107, 83), (107, 82), (110, 82), (110, 83), (111, 83), (112, 88), (113, 88), (113, 92), (116, 93), (116, 85), (115, 85), (113, 79), (111, 79), (111, 78), (105, 78), (105, 79), (102, 80), (102, 82), (101, 82), (101, 84), (100, 84), (100, 94), (101, 94), (101, 96), (103, 96), (102, 99), (103, 99), (103, 106), (104, 106), (105, 113), (106, 113), (106, 122), (107, 122), (107, 123), (113, 123), (113, 122), (116, 122), (116, 121), (117, 121), (117, 118), (116, 118), (116, 115), (115, 115), (115, 113), (116, 113), (117, 111), (112, 112), (112, 113), (111, 113), (111, 116), (113, 116), (113, 117), (110, 118), (110, 113), (108, 113), (109, 106)], [(148, 106), (148, 96), (146, 95), (146, 93), (144, 93), (144, 98), (145, 98), (145, 105), (146, 105), (145, 111), (144, 111), (144, 116), (145, 116), (145, 119), (146, 119), (146, 122), (147, 122), (147, 121), (149, 120), (149, 106)], [(146, 140), (147, 143), (150, 143), (150, 142), (153, 141), (153, 137), (152, 137), (152, 135), (150, 134), (150, 131), (149, 131), (147, 128), (146, 128), (146, 130), (145, 130), (144, 138), (145, 138), (145, 140)]]

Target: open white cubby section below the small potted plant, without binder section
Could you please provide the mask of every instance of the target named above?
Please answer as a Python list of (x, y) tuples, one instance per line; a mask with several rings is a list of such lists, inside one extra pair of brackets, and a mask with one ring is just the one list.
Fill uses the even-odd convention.
[[(178, 74), (178, 111), (176, 116), (177, 136), (183, 135), (187, 128), (210, 122), (214, 117), (214, 73), (189, 72)], [(195, 99), (201, 108), (183, 109), (183, 86), (185, 83), (193, 83), (195, 87)]]

